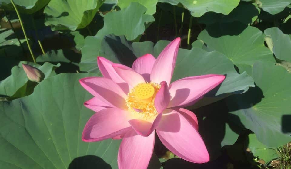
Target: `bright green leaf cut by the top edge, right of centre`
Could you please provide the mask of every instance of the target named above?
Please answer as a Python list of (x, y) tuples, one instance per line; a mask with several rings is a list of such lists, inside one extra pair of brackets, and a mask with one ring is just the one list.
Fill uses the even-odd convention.
[(172, 5), (181, 3), (194, 17), (200, 17), (209, 11), (227, 15), (239, 5), (239, 0), (159, 0), (159, 2), (166, 2)]

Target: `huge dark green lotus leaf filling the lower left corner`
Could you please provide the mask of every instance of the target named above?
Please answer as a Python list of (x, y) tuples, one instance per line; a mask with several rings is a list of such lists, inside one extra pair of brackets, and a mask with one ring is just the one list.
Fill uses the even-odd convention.
[[(92, 73), (62, 73), (45, 79), (29, 96), (0, 102), (1, 168), (117, 169), (120, 140), (83, 142), (94, 114), (83, 106), (92, 98), (79, 79)], [(161, 164), (153, 155), (151, 169)]]

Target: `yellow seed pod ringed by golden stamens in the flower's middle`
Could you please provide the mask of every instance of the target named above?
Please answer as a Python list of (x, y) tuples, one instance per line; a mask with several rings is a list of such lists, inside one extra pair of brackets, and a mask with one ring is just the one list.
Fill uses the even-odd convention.
[(161, 85), (158, 83), (140, 83), (132, 88), (126, 99), (129, 112), (138, 119), (148, 119), (158, 114), (155, 107), (155, 97)]

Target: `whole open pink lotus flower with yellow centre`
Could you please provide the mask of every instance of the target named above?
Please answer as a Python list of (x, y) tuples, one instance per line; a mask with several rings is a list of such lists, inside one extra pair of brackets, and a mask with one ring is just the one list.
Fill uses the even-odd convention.
[(82, 140), (122, 138), (118, 152), (120, 169), (147, 168), (155, 130), (162, 143), (178, 157), (194, 163), (209, 161), (198, 133), (197, 117), (182, 107), (202, 98), (225, 76), (192, 76), (170, 84), (179, 44), (180, 38), (176, 38), (157, 59), (146, 54), (136, 59), (132, 68), (98, 57), (104, 77), (79, 80), (94, 96), (84, 105), (96, 112), (85, 125)]

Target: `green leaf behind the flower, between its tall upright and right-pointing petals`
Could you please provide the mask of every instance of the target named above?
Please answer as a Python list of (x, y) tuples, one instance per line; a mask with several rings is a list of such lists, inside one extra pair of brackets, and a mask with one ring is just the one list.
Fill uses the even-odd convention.
[[(154, 47), (154, 56), (166, 47), (169, 41), (158, 41)], [(246, 74), (238, 74), (233, 63), (227, 57), (217, 51), (206, 52), (193, 47), (191, 50), (179, 49), (172, 81), (205, 74), (223, 74), (226, 79), (215, 93), (205, 96), (218, 96), (225, 93), (244, 93), (249, 86), (254, 86), (253, 79)], [(230, 87), (232, 86), (232, 87)]]

